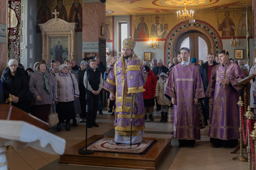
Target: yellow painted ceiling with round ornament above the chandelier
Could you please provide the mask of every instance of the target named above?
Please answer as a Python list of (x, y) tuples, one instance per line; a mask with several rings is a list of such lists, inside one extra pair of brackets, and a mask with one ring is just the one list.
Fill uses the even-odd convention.
[[(183, 10), (213, 11), (245, 9), (246, 0), (107, 0), (106, 16), (176, 13)], [(252, 8), (252, 0), (248, 0)]]

